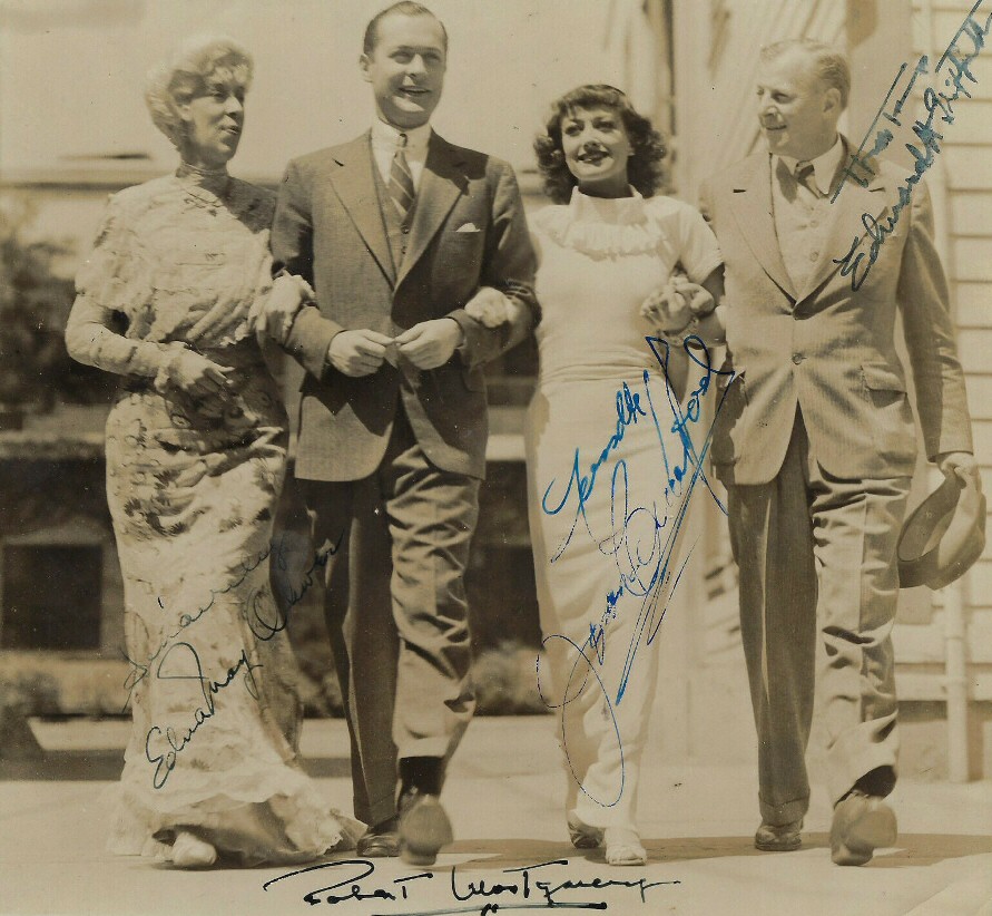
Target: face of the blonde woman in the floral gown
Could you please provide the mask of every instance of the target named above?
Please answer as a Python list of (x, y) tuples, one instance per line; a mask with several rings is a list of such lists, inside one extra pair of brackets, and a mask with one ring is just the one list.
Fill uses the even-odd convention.
[(245, 124), (244, 82), (232, 76), (209, 76), (177, 107), (186, 124), (184, 158), (202, 168), (225, 166), (237, 153)]

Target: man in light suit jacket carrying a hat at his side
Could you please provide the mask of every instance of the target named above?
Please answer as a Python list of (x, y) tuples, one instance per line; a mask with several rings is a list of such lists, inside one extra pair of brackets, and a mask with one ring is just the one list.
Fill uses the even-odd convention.
[[(767, 149), (708, 182), (704, 212), (726, 265), (719, 316), (736, 378), (713, 459), (728, 489), (740, 621), (758, 731), (759, 849), (801, 845), (817, 641), (832, 857), (861, 865), (895, 841), (890, 633), (896, 543), (916, 455), (894, 324), (902, 315), (930, 460), (976, 475), (964, 382), (923, 184), (837, 133), (846, 60), (813, 41), (762, 52)], [(900, 187), (911, 203), (900, 207)], [(851, 273), (863, 216), (894, 228)], [(871, 241), (871, 240), (868, 240)], [(866, 270), (867, 269), (867, 270)], [(856, 286), (856, 289), (854, 289)]]

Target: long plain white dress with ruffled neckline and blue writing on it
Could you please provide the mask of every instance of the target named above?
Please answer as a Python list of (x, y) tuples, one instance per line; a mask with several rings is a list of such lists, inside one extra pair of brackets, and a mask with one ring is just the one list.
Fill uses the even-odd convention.
[(676, 264), (698, 283), (720, 255), (699, 213), (670, 197), (576, 189), (533, 224), (542, 319), (527, 462), (539, 686), (558, 720), (567, 810), (636, 829), (655, 640), (684, 561), (688, 500), (705, 489), (694, 457), (705, 430), (685, 415), (708, 376), (681, 349), (646, 340), (657, 332), (640, 306)]

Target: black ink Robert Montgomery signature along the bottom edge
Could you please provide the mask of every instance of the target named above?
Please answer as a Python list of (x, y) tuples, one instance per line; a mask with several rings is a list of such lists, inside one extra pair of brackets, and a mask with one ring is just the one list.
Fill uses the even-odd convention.
[[(550, 861), (534, 863), (518, 868), (504, 868), (503, 875), (511, 876), (501, 883), (484, 879), (477, 881), (466, 880), (458, 874), (458, 868), (452, 867), (446, 890), (451, 894), (452, 903), (464, 904), (472, 902), (468, 907), (453, 907), (445, 909), (430, 909), (420, 913), (411, 913), (409, 916), (452, 916), (460, 913), (478, 913), (479, 916), (489, 916), (500, 912), (512, 909), (609, 909), (607, 900), (576, 900), (562, 899), (567, 891), (574, 890), (635, 890), (642, 905), (647, 904), (648, 891), (656, 887), (680, 885), (680, 880), (648, 881), (645, 878), (636, 880), (622, 880), (617, 878), (590, 879), (561, 879), (559, 874), (562, 866), (568, 866), (567, 859), (552, 859)], [(295, 871), (287, 871), (262, 885), (263, 890), (268, 890), (274, 884), (296, 878), (301, 875), (311, 875), (315, 871), (331, 869), (334, 871), (334, 884), (310, 890), (303, 895), (303, 902), (310, 906), (338, 904), (360, 900), (382, 900), (395, 903), (409, 900), (415, 887), (423, 886), (423, 881), (434, 881), (438, 875), (433, 871), (419, 871), (394, 878), (392, 881), (380, 879), (376, 884), (366, 883), (367, 878), (375, 874), (375, 864), (369, 859), (342, 859), (340, 861), (322, 863)], [(341, 875), (344, 877), (341, 877)], [(436, 886), (436, 883), (435, 885)], [(531, 903), (522, 903), (529, 900)], [(627, 908), (625, 907), (625, 912)]]

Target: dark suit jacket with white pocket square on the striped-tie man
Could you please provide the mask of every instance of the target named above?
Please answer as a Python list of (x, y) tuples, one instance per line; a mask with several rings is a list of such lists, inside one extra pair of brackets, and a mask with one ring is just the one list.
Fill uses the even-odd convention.
[[(534, 255), (509, 165), (433, 134), (410, 242), (393, 266), (372, 169), (370, 135), (289, 163), (272, 230), (274, 270), (311, 282), (316, 306), (297, 316), (287, 351), (306, 369), (296, 474), (356, 480), (382, 461), (402, 400), (424, 452), (443, 470), (483, 477), (488, 420), (481, 367), (529, 329)], [(527, 304), (515, 327), (487, 329), (463, 306), (480, 286)], [(326, 361), (332, 338), (369, 328), (390, 337), (450, 316), (465, 342), (425, 372), (389, 363), (348, 378)]]

